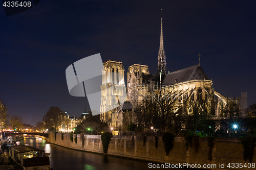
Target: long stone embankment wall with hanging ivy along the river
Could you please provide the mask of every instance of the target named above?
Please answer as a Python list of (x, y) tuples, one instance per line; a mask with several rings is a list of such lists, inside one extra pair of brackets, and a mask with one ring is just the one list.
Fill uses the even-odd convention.
[[(75, 135), (73, 135), (75, 138)], [(57, 133), (56, 140), (54, 133), (49, 134), (47, 142), (61, 145), (63, 147), (88, 151), (103, 154), (102, 142), (100, 135), (84, 135), (84, 142), (80, 135), (77, 135), (77, 143), (70, 140), (70, 134), (63, 134), (61, 140), (61, 133)], [(195, 142), (192, 142), (192, 147), (186, 151), (184, 144), (184, 137), (175, 137), (174, 148), (170, 151), (168, 156), (165, 156), (164, 144), (161, 137), (158, 137), (158, 147), (155, 145), (155, 136), (147, 136), (147, 140), (143, 146), (143, 136), (113, 136), (109, 145), (109, 155), (120, 156), (138, 160), (146, 160), (149, 162), (161, 162), (171, 164), (216, 164), (216, 168), (209, 169), (255, 169), (255, 168), (229, 168), (229, 163), (248, 163), (243, 159), (243, 145), (239, 138), (215, 138), (214, 148), (212, 149), (212, 160), (208, 160), (209, 147), (206, 138), (199, 139), (198, 150), (196, 150)], [(256, 150), (251, 163), (256, 163)], [(220, 168), (220, 164), (224, 168)], [(230, 164), (231, 165), (231, 164)], [(202, 167), (201, 167), (202, 168)]]

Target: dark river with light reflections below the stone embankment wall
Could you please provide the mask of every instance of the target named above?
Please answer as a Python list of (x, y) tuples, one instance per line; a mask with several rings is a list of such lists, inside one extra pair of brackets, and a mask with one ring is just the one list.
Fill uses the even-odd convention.
[[(88, 152), (76, 151), (63, 148), (58, 145), (47, 143), (45, 139), (35, 137), (25, 137), (20, 140), (20, 145), (30, 145), (31, 147), (45, 150), (50, 153), (50, 165), (53, 170), (136, 170), (136, 169), (159, 169), (150, 168), (148, 162), (135, 161), (130, 159), (104, 156)], [(155, 164), (156, 165), (156, 164)], [(163, 169), (163, 168), (160, 168)], [(164, 168), (174, 169), (174, 168)], [(178, 168), (176, 168), (178, 169)], [(182, 168), (183, 169), (183, 168)]]

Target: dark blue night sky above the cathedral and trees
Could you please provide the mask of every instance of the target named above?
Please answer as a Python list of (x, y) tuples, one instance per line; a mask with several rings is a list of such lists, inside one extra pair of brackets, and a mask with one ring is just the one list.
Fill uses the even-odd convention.
[(198, 64), (224, 96), (256, 102), (256, 1), (41, 1), (6, 17), (0, 8), (0, 94), (9, 115), (35, 125), (51, 106), (80, 116), (87, 98), (71, 96), (66, 68), (100, 53), (102, 61), (157, 71), (161, 9), (167, 71)]

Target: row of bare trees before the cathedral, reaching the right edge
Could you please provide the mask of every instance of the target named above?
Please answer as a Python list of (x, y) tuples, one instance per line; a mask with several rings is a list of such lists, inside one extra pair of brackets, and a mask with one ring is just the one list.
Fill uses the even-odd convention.
[(247, 117), (241, 118), (239, 106), (230, 102), (221, 108), (223, 116), (215, 117), (214, 108), (210, 101), (191, 100), (191, 96), (181, 101), (181, 91), (172, 91), (162, 88), (150, 91), (136, 108), (137, 131), (150, 130), (151, 127), (159, 129), (160, 133), (172, 132), (178, 135), (186, 130), (193, 133), (203, 131), (209, 133), (220, 129), (223, 133), (240, 129), (256, 129), (256, 104), (250, 105), (246, 110)]

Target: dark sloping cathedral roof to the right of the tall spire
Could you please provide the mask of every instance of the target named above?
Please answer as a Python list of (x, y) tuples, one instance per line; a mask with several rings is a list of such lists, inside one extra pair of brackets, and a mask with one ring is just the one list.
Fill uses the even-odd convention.
[(199, 64), (171, 72), (164, 76), (164, 85), (186, 82), (188, 80), (210, 80)]

